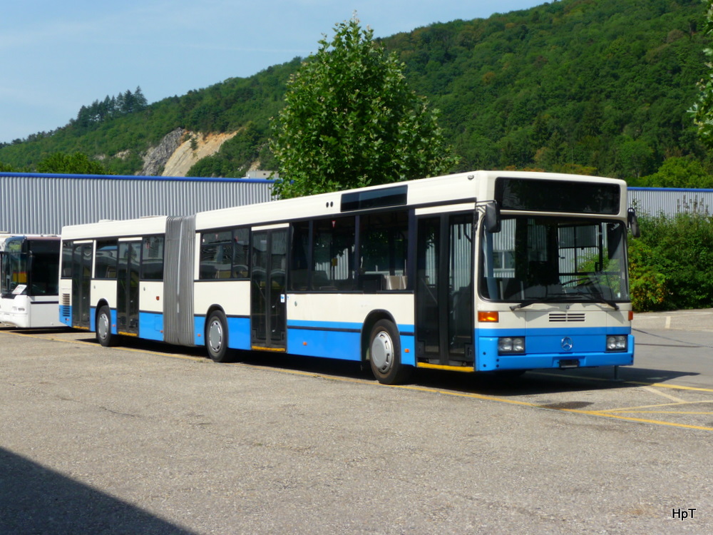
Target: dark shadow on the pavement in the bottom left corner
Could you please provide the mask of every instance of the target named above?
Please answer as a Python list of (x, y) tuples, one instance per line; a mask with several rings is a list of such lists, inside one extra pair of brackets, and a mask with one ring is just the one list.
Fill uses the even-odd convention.
[(193, 534), (3, 448), (0, 533)]

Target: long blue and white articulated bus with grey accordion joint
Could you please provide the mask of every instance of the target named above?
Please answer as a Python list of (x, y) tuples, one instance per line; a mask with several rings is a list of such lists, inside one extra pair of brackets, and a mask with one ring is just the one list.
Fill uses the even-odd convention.
[(474, 171), (62, 230), (60, 319), (119, 335), (507, 372), (631, 365), (622, 180)]

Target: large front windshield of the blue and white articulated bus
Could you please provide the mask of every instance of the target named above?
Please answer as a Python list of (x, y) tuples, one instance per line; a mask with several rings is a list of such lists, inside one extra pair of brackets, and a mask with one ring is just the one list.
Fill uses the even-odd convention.
[(513, 302), (629, 299), (625, 225), (620, 221), (504, 216), (501, 232), (483, 230), (481, 296)]

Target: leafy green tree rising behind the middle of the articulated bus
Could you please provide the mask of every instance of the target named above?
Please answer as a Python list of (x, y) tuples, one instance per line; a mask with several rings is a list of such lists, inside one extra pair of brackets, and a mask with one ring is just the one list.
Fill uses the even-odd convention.
[(289, 80), (270, 146), (283, 198), (446, 173), (456, 163), (436, 111), (404, 65), (353, 16)]

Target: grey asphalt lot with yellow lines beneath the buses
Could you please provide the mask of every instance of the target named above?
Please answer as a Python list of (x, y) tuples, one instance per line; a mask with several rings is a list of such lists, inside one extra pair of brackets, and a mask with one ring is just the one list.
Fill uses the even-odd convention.
[(713, 533), (713, 310), (496, 384), (0, 330), (0, 533)]

